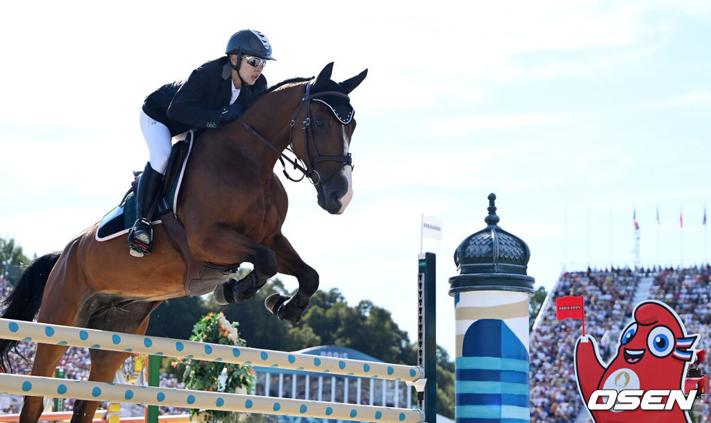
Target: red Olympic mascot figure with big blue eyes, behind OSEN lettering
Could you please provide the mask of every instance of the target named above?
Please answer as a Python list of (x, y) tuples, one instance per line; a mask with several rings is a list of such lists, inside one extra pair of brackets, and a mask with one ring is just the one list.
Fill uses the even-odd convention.
[(577, 340), (580, 397), (596, 423), (691, 422), (688, 410), (697, 390), (685, 395), (684, 382), (699, 336), (687, 334), (676, 312), (662, 302), (637, 304), (633, 317), (607, 365), (592, 336)]

